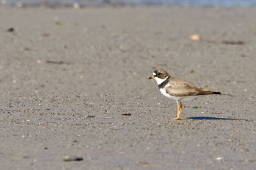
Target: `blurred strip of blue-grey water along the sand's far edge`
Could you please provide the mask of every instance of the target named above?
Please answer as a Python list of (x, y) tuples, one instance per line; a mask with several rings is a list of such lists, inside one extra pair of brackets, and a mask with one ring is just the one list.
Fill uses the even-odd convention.
[(248, 7), (256, 0), (0, 0), (2, 5), (24, 7), (29, 5), (80, 7), (101, 5), (193, 5), (220, 7)]

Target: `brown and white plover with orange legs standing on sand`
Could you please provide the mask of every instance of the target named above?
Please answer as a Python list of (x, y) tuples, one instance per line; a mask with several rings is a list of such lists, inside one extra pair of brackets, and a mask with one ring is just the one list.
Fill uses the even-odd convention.
[[(179, 120), (182, 110), (182, 100), (195, 98), (199, 95), (221, 94), (211, 90), (197, 88), (190, 83), (171, 77), (165, 70), (157, 69), (149, 79), (157, 81), (160, 92), (168, 98), (177, 102), (177, 116), (172, 120)], [(179, 104), (180, 103), (180, 104)]]

